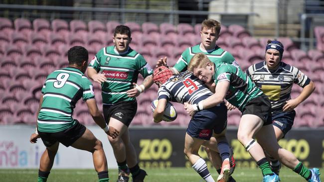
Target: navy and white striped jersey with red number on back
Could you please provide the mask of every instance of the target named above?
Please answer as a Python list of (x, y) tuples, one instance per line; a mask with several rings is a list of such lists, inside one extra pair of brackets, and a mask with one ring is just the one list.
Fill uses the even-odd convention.
[(213, 93), (191, 72), (182, 72), (169, 78), (159, 89), (159, 99), (190, 104), (209, 97)]

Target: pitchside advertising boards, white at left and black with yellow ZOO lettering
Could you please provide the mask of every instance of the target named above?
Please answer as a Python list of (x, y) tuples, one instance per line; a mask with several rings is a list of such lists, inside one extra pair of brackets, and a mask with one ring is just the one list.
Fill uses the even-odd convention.
[[(103, 142), (109, 169), (116, 169), (112, 148), (105, 133), (97, 126), (88, 127)], [(0, 126), (0, 169), (36, 169), (45, 147), (41, 140), (29, 143), (32, 126)], [(237, 128), (229, 128), (227, 137), (234, 151), (237, 167), (256, 168), (248, 152), (236, 139)], [(324, 129), (294, 129), (280, 141), (280, 145), (292, 151), (299, 160), (310, 167), (324, 167)], [(187, 167), (191, 164), (183, 154), (185, 128), (137, 128), (131, 127), (132, 143), (144, 168)], [(207, 159), (203, 148), (199, 155)], [(208, 160), (207, 165), (211, 165)], [(55, 169), (92, 169), (90, 153), (60, 145), (54, 162)]]

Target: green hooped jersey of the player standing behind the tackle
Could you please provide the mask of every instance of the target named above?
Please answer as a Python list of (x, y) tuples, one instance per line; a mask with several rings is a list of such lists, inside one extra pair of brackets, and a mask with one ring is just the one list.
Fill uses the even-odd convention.
[(200, 49), (200, 44), (184, 50), (173, 68), (175, 68), (178, 72), (186, 71), (191, 58), (197, 53), (204, 53), (213, 63), (227, 63), (239, 68), (239, 65), (235, 61), (235, 58), (229, 52), (224, 51), (217, 45), (214, 50), (206, 52), (205, 50)]

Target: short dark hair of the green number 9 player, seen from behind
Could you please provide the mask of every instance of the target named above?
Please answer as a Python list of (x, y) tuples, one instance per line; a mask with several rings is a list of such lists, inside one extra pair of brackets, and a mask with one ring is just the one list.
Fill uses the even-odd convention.
[(88, 61), (88, 56), (87, 49), (82, 46), (74, 46), (67, 51), (67, 58), (70, 65), (76, 64), (77, 66), (81, 66), (83, 61)]

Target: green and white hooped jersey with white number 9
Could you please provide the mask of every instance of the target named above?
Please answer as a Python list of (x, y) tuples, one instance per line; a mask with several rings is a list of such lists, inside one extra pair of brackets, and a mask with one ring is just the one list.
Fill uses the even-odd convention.
[(84, 74), (73, 67), (54, 71), (47, 76), (42, 88), (43, 102), (37, 117), (38, 130), (59, 132), (72, 127), (76, 102), (94, 98), (91, 82)]

